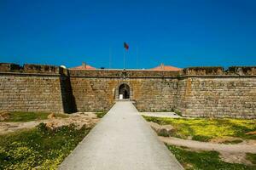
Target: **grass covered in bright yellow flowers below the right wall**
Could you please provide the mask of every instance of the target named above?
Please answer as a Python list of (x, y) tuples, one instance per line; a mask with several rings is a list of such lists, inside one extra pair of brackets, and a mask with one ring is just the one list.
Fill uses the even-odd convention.
[[(210, 119), (210, 118), (165, 118), (144, 116), (148, 122), (161, 125), (171, 124), (175, 128), (177, 138), (208, 141), (224, 137), (238, 137), (241, 139), (256, 139), (256, 134), (246, 134), (256, 131), (255, 120), (243, 119)], [(235, 142), (236, 143), (236, 142)], [(237, 141), (239, 143), (239, 141)]]

